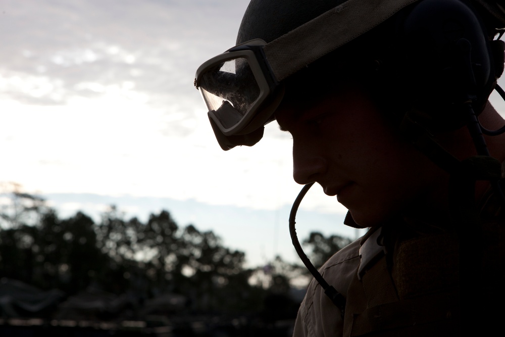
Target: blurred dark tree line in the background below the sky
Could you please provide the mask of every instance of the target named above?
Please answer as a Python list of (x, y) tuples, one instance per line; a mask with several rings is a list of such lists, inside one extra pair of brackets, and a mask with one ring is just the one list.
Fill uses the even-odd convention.
[[(142, 299), (172, 293), (187, 297), (193, 312), (260, 312), (269, 296), (287, 297), (294, 280), (311, 278), (304, 266), (280, 257), (246, 267), (243, 252), (225, 247), (212, 231), (179, 226), (167, 210), (140, 221), (111, 206), (94, 221), (80, 211), (61, 218), (24, 192), (10, 199), (0, 212), (0, 278), (42, 290), (72, 295), (95, 287)], [(304, 245), (320, 266), (349, 242), (313, 232)]]

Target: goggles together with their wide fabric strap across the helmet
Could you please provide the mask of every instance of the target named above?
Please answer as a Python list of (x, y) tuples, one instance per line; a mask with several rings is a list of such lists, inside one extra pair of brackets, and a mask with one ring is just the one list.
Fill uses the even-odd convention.
[(202, 64), (194, 86), (221, 148), (255, 145), (275, 119), (282, 80), (416, 1), (348, 0), (272, 42), (250, 40)]

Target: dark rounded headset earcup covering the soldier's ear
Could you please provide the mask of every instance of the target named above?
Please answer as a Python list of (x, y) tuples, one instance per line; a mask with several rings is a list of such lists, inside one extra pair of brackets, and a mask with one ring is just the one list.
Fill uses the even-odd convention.
[(459, 0), (423, 0), (403, 18), (398, 60), (407, 78), (408, 100), (429, 116), (432, 131), (464, 126), (461, 105), (471, 99), (480, 113), (495, 81), (479, 18)]

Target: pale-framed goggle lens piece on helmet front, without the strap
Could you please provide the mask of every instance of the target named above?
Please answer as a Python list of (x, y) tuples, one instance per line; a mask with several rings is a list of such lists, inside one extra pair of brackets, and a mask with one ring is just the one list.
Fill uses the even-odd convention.
[(266, 44), (260, 39), (247, 41), (196, 71), (194, 85), (209, 109), (216, 136), (253, 133), (268, 122), (280, 103), (282, 89), (268, 69), (263, 53)]

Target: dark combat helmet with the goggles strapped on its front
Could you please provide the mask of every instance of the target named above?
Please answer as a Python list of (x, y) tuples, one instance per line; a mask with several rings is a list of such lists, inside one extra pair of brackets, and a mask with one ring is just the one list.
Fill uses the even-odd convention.
[[(472, 3), (486, 15), (486, 22), (493, 20), (493, 27), (498, 27), (500, 24), (505, 26), (505, 14), (497, 5), (477, 0)], [(445, 5), (447, 6), (444, 9)], [(426, 17), (433, 16), (434, 7), (437, 10), (441, 8), (438, 11), (440, 14), (436, 19), (426, 20)], [(447, 38), (444, 31), (447, 28), (444, 21), (446, 14), (454, 12), (462, 13), (461, 20), (475, 21), (472, 21), (470, 28), (461, 29), (468, 26), (468, 22), (461, 23), (457, 18), (456, 27), (448, 27), (448, 35), (455, 35), (449, 37), (452, 40), (458, 40), (461, 39), (458, 34), (463, 31), (463, 36), (471, 40), (473, 48), (469, 57), (472, 59), (470, 70), (472, 74), (467, 77), (473, 76), (476, 83), (461, 79), (461, 69), (465, 65), (460, 62), (461, 64), (453, 66), (455, 58), (460, 57), (459, 52), (454, 51), (455, 47), (452, 44), (455, 43), (445, 43), (444, 40)], [(452, 108), (454, 101), (462, 100), (460, 92), (467, 90), (466, 87), (462, 89), (462, 86), (468, 86), (471, 91), (469, 95), (476, 96), (471, 99), (476, 101), (475, 110), (478, 113), (487, 101), (489, 92), (499, 76), (497, 74), (501, 74), (503, 53), (502, 47), (501, 56), (500, 47), (494, 48), (498, 52), (493, 53), (493, 47), (488, 43), (487, 37), (495, 31), (488, 31), (488, 28), (482, 24), (483, 19), (477, 18), (474, 12), (473, 8), (471, 9), (469, 5), (459, 0), (441, 2), (436, 0), (324, 0), (318, 2), (252, 0), (242, 19), (237, 45), (201, 65), (196, 72), (194, 85), (200, 90), (207, 104), (209, 119), (221, 148), (229, 150), (237, 145), (252, 146), (262, 138), (263, 126), (275, 118), (274, 112), (282, 101), (287, 78), (292, 77), (301, 69), (311, 67), (317, 63), (315, 61), (325, 57), (328, 59), (328, 55), (334, 54), (335, 51), (348, 49), (351, 42), (371, 35), (368, 32), (376, 31), (377, 27), (389, 22), (389, 29), (395, 29), (395, 33), (394, 38), (388, 40), (390, 42), (388, 47), (400, 45), (402, 49), (405, 49), (401, 52), (407, 57), (397, 58), (397, 60), (400, 63), (410, 61), (400, 64), (401, 67), (397, 67), (400, 70), (394, 72), (383, 67), (387, 69), (387, 71), (382, 71), (382, 74), (387, 75), (384, 80), (388, 83), (403, 80), (402, 87), (409, 86), (409, 83), (417, 85), (406, 94), (401, 92), (400, 96), (407, 97), (410, 101), (419, 101), (421, 108), (443, 106), (441, 110), (449, 112), (451, 109), (446, 109), (446, 107)], [(397, 19), (388, 20), (391, 17)], [(419, 25), (418, 23), (423, 20), (429, 24)], [(474, 27), (478, 27), (482, 34), (467, 36)], [(441, 39), (438, 38), (440, 36)], [(368, 41), (373, 40), (373, 38), (368, 39)], [(423, 43), (428, 43), (428, 45)], [(464, 49), (465, 46), (458, 46), (456, 49), (458, 48)], [(369, 47), (369, 51), (376, 49), (377, 44)], [(383, 50), (387, 49), (383, 48)], [(434, 50), (440, 55), (448, 56), (432, 55), (426, 65), (424, 62), (426, 55), (420, 53), (426, 50)], [(449, 53), (446, 53), (447, 50)], [(397, 53), (390, 55), (394, 54)], [(498, 62), (493, 62), (494, 57), (490, 55), (494, 54), (498, 55)], [(443, 62), (438, 64), (440, 59)], [(419, 67), (423, 64), (425, 64), (424, 67)], [(501, 66), (496, 67), (495, 64)], [(433, 70), (433, 66), (438, 68)], [(440, 87), (443, 86), (443, 88), (428, 89), (429, 86), (425, 85), (426, 81), (420, 81), (412, 76), (423, 76), (427, 73), (426, 69), (431, 70), (429, 74), (439, 74), (441, 73), (439, 69), (443, 70), (440, 78), (427, 79), (435, 83), (435, 86), (436, 83), (442, 83)], [(399, 78), (400, 81), (398, 81), (401, 73), (407, 73), (408, 77)], [(409, 78), (414, 79), (406, 85), (405, 80)], [(451, 80), (449, 84), (446, 82), (448, 80)], [(444, 89), (446, 87), (451, 90), (447, 92)], [(410, 97), (413, 92), (419, 94)], [(428, 103), (424, 100), (427, 95), (433, 97)], [(443, 102), (440, 102), (441, 100)], [(403, 102), (401, 103), (403, 105)], [(457, 112), (448, 113), (444, 115), (448, 117), (443, 117), (442, 121), (437, 121), (435, 125), (442, 125), (443, 128), (446, 128), (446, 125), (452, 128), (460, 127), (461, 121), (453, 123), (454, 115), (457, 117), (457, 114)], [(428, 119), (431, 118), (432, 116), (428, 116)]]

